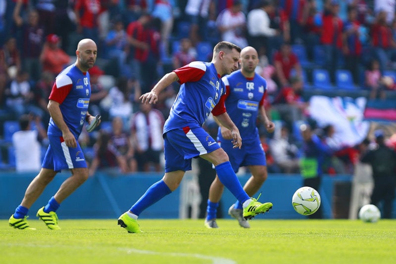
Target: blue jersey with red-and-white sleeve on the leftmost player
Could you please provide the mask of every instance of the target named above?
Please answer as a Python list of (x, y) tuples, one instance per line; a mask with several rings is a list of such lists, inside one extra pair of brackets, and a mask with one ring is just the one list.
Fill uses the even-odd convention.
[[(49, 99), (59, 103), (63, 120), (76, 138), (81, 134), (90, 97), (91, 85), (88, 72), (84, 73), (72, 64), (56, 76)], [(52, 118), (49, 119), (48, 135), (62, 136), (62, 131)]]

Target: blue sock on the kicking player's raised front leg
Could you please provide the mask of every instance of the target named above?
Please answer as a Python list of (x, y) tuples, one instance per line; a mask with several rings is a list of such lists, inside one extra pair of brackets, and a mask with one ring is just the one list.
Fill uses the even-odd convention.
[(244, 188), (242, 188), (237, 175), (232, 169), (230, 161), (218, 164), (215, 169), (221, 183), (224, 184), (228, 190), (230, 190), (230, 192), (238, 199), (238, 201), (241, 202), (241, 204), (250, 199), (250, 197), (244, 191)]

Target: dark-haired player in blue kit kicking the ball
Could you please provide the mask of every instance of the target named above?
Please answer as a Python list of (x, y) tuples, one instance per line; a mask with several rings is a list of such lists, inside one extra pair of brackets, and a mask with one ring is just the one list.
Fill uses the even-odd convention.
[[(243, 205), (244, 217), (254, 217), (272, 207), (271, 203), (261, 204), (247, 195), (227, 154), (202, 128), (210, 112), (218, 112), (216, 105), (226, 92), (221, 76), (238, 69), (240, 52), (241, 48), (230, 42), (219, 42), (213, 49), (211, 62), (193, 61), (167, 73), (149, 93), (140, 97), (144, 104), (155, 104), (158, 94), (171, 83), (182, 84), (163, 129), (165, 175), (118, 218), (118, 224), (128, 232), (141, 232), (137, 222), (140, 213), (174, 191), (184, 173), (191, 170), (192, 158), (198, 156), (214, 164), (220, 181)], [(227, 112), (217, 115), (217, 119), (230, 130), (233, 148), (241, 148), (239, 130)]]

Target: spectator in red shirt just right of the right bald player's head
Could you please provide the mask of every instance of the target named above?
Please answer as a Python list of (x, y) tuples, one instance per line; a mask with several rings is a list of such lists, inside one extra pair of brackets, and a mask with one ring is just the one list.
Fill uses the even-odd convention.
[(297, 76), (302, 76), (301, 65), (297, 55), (292, 52), (289, 43), (283, 43), (281, 49), (274, 55), (276, 82), (280, 87), (289, 86), (291, 72), (294, 69)]

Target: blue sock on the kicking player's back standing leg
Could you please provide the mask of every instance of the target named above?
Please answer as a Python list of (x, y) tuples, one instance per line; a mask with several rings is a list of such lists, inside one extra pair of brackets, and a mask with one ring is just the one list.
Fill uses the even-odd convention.
[(160, 180), (147, 189), (146, 193), (131, 207), (130, 211), (139, 216), (142, 211), (171, 192), (168, 185), (163, 180)]

